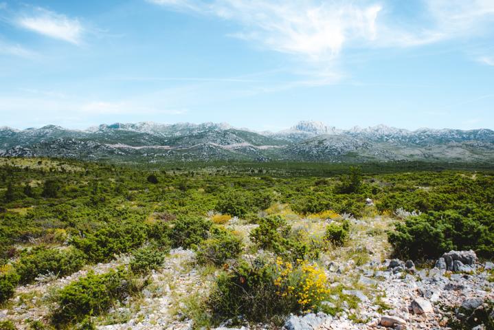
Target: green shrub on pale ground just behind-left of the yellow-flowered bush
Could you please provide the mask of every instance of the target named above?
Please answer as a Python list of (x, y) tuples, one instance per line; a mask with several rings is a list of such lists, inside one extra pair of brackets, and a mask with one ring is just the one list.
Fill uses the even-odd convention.
[(242, 239), (230, 230), (213, 227), (210, 238), (202, 241), (195, 249), (199, 263), (223, 265), (228, 259), (236, 259), (242, 252)]

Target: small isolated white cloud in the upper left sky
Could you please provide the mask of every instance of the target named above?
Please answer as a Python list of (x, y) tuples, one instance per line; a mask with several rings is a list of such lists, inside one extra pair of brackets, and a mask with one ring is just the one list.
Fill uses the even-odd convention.
[(37, 8), (32, 14), (18, 17), (16, 23), (27, 30), (75, 45), (80, 45), (85, 32), (78, 19), (69, 19), (63, 14), (41, 8)]

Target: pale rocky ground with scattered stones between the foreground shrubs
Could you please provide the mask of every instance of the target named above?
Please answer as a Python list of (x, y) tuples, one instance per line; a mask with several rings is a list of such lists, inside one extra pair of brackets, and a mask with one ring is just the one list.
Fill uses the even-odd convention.
[[(494, 301), (494, 264), (479, 263), (468, 252), (447, 254), (436, 267), (420, 268), (411, 262), (391, 260), (385, 230), (393, 221), (386, 217), (352, 219), (350, 242), (322, 256), (329, 281), (335, 287), (344, 285), (343, 293), (355, 297), (357, 308), (342, 301), (338, 305), (342, 311), (335, 316), (291, 316), (285, 324), (287, 330), (451, 329), (455, 322), (473, 322), (473, 318), (482, 314), (480, 311), (488, 308), (485, 304)], [(295, 222), (304, 228), (318, 225), (317, 221), (307, 219)], [(238, 221), (229, 227), (246, 237), (254, 228)], [(12, 320), (19, 329), (27, 329), (26, 320), (47, 318), (54, 290), (84, 276), (90, 269), (107, 272), (128, 263), (127, 259), (123, 256), (112, 263), (86, 267), (66, 278), (44, 278), (35, 285), (19, 287), (8, 309), (0, 311), (0, 318)], [(144, 289), (142, 296), (129, 299), (115, 306), (108, 315), (97, 318), (98, 329), (192, 329), (186, 311), (207, 296), (214, 272), (212, 267), (196, 265), (191, 250), (172, 250), (164, 267), (150, 275), (152, 284)], [(494, 314), (490, 317), (494, 318)], [(248, 328), (246, 325), (243, 329)]]

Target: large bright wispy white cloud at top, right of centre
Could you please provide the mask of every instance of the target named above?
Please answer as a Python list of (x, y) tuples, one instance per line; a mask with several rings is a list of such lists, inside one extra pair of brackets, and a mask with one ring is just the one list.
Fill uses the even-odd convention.
[(309, 61), (330, 61), (348, 41), (375, 39), (381, 11), (379, 4), (354, 5), (343, 1), (148, 1), (236, 21), (242, 30), (232, 36)]

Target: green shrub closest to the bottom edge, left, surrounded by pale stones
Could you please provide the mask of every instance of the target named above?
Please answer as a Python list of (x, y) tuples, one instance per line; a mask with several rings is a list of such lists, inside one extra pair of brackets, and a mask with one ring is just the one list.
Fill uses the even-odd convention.
[(80, 322), (86, 316), (98, 316), (140, 289), (142, 286), (122, 270), (100, 275), (90, 272), (56, 293), (58, 307), (52, 312), (52, 322), (67, 325)]

